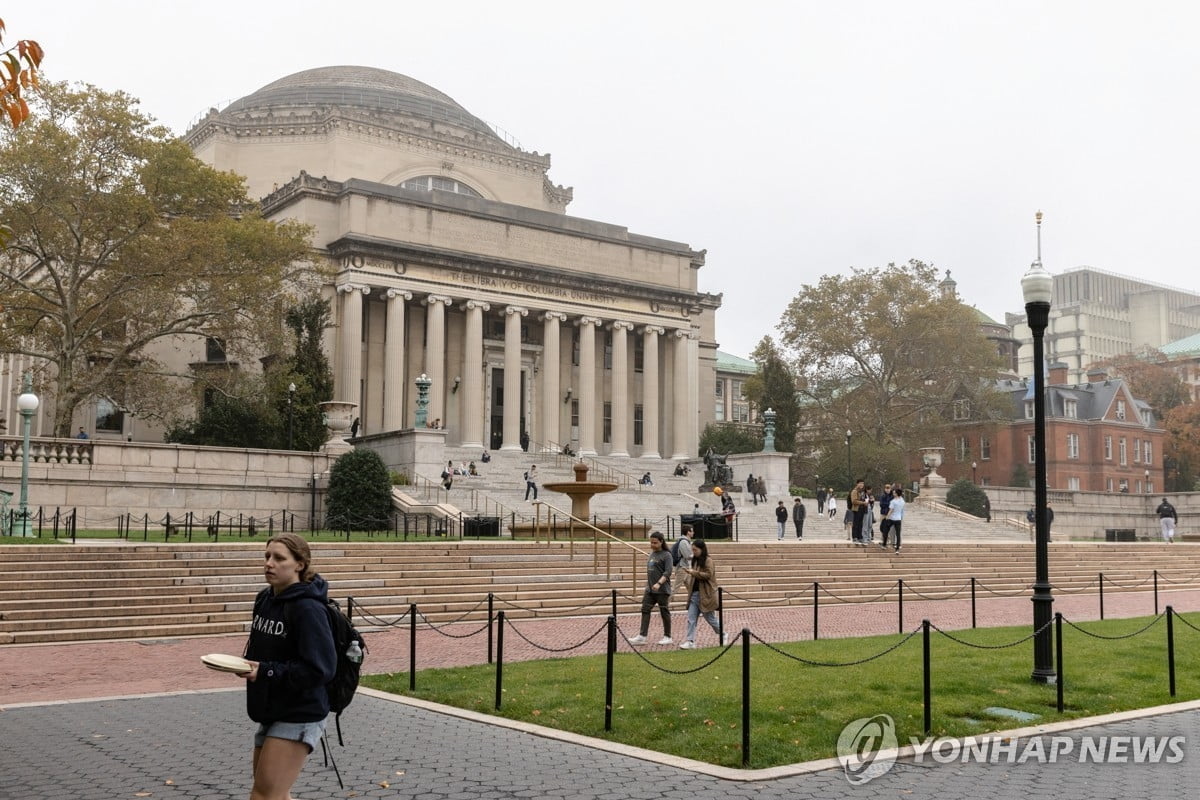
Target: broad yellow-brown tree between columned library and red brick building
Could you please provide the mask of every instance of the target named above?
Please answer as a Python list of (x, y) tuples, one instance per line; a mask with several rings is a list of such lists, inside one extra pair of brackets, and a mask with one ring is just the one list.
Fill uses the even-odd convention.
[(920, 261), (823, 276), (791, 301), (779, 331), (811, 438), (828, 447), (848, 428), (856, 451), (869, 441), (908, 456), (941, 439), (964, 393), (974, 420), (1002, 407), (990, 389), (1001, 360), (976, 311), (943, 295)]

